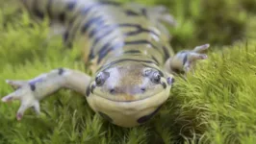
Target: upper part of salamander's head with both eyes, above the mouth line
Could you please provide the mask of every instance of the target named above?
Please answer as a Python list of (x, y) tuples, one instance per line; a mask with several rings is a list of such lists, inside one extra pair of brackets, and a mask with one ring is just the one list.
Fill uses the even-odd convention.
[(96, 74), (90, 91), (115, 102), (133, 102), (168, 91), (173, 78), (159, 68), (150, 68), (139, 62), (122, 62)]

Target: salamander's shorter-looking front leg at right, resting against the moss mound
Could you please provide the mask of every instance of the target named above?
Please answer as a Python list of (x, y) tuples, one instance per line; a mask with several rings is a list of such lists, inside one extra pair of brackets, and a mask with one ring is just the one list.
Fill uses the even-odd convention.
[(209, 44), (196, 46), (192, 51), (182, 51), (174, 57), (166, 60), (166, 71), (169, 73), (185, 73), (192, 70), (196, 60), (207, 59), (206, 54), (202, 54), (210, 47)]

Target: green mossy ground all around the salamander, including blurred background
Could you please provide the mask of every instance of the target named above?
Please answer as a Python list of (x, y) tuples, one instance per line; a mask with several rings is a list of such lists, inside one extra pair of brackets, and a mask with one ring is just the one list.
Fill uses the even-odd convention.
[[(57, 67), (88, 71), (77, 59), (80, 49), (64, 49), (60, 37), (46, 40), (47, 21), (33, 22), (14, 2), (0, 0), (1, 97), (13, 91), (6, 79), (27, 80)], [(147, 1), (165, 4), (180, 23), (170, 29), (174, 48), (214, 45), (194, 75), (176, 78), (166, 105), (150, 122), (117, 127), (95, 114), (84, 97), (61, 90), (41, 102), (39, 117), (30, 109), (20, 122), (15, 119), (19, 103), (2, 103), (0, 143), (254, 143), (256, 41), (250, 39), (255, 37), (255, 3), (201, 2)], [(247, 41), (234, 42), (239, 39)]]

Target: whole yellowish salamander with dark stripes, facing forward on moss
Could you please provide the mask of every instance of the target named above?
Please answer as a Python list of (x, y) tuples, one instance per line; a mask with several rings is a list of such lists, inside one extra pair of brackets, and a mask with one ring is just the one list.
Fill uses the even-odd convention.
[(167, 27), (176, 23), (163, 6), (107, 0), (20, 1), (36, 17), (47, 16), (52, 26), (59, 24), (65, 45), (82, 39), (81, 53), (92, 74), (62, 67), (28, 81), (7, 80), (14, 91), (2, 101), (21, 102), (17, 120), (28, 108), (39, 113), (40, 100), (69, 88), (84, 95), (90, 108), (111, 123), (139, 126), (165, 104), (177, 73), (186, 75), (197, 60), (207, 59), (209, 44), (174, 54)]

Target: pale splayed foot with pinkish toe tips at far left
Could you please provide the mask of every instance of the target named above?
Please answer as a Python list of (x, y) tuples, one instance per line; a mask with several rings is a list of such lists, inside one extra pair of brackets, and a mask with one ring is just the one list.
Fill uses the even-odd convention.
[(13, 93), (2, 98), (3, 102), (12, 102), (13, 100), (20, 101), (20, 107), (16, 113), (17, 120), (21, 120), (23, 113), (28, 108), (34, 108), (36, 113), (39, 114), (39, 101), (35, 96), (34, 86), (28, 81), (6, 81), (7, 84), (13, 86), (16, 89)]

